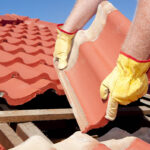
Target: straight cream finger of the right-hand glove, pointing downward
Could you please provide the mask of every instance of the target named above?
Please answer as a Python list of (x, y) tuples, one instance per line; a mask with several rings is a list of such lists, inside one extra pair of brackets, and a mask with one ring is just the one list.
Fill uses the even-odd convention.
[(117, 116), (118, 105), (118, 102), (110, 96), (108, 99), (107, 110), (105, 115), (106, 119), (110, 121), (115, 120)]

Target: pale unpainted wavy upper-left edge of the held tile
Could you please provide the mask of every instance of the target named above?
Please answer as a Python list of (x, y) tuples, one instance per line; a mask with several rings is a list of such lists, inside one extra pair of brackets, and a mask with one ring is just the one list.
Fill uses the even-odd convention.
[(69, 70), (75, 65), (78, 59), (80, 45), (87, 41), (95, 41), (106, 24), (108, 14), (115, 10), (116, 8), (108, 1), (104, 1), (98, 6), (95, 19), (91, 26), (87, 30), (80, 30), (77, 32), (66, 70)]

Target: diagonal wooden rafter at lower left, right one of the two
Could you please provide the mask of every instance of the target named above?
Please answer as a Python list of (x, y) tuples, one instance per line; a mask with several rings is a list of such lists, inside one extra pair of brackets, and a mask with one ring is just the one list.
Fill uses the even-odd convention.
[(48, 139), (32, 122), (19, 123), (17, 125), (16, 133), (22, 138), (23, 141), (27, 140), (31, 136), (39, 135), (49, 143), (53, 144), (52, 141)]

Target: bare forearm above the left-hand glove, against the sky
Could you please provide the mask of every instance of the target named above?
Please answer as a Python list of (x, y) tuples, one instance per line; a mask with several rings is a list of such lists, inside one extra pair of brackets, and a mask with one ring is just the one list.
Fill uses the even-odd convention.
[(67, 32), (81, 29), (96, 13), (101, 1), (104, 0), (77, 0), (71, 14), (64, 23), (63, 29)]

